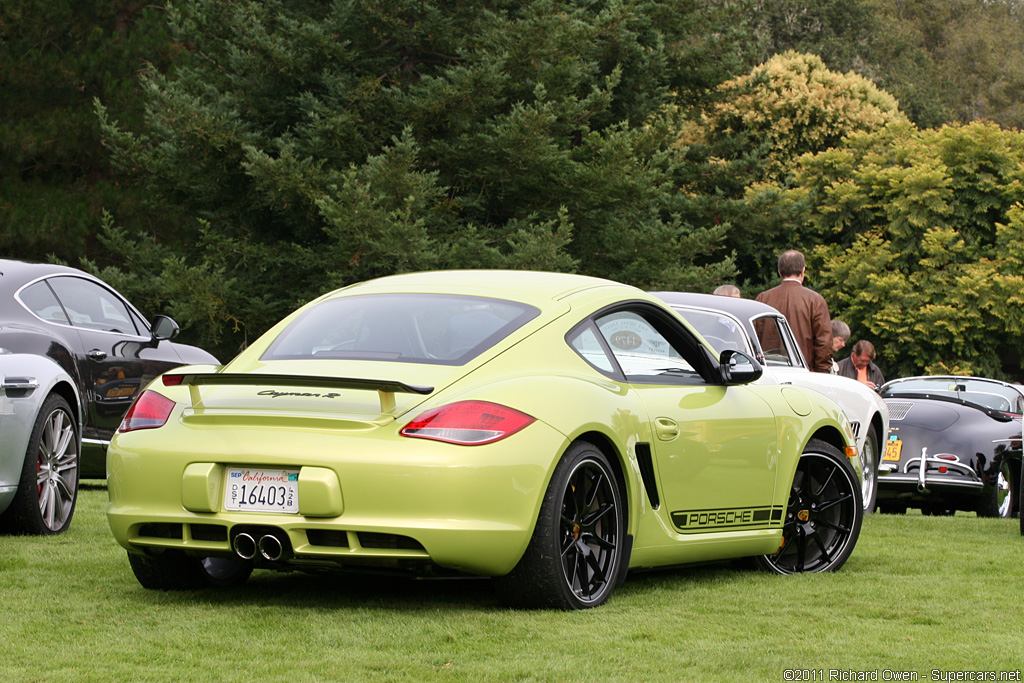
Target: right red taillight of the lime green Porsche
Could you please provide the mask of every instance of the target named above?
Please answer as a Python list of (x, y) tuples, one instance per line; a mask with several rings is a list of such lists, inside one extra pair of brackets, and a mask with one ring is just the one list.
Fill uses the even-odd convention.
[(447, 443), (480, 445), (511, 436), (534, 421), (535, 418), (524, 413), (498, 403), (464, 400), (427, 411), (398, 433)]

